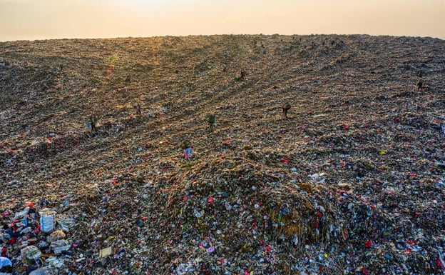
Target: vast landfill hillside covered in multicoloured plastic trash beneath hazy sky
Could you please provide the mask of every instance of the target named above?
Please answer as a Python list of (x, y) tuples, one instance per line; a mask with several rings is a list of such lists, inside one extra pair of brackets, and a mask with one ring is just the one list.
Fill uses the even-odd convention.
[(1, 42), (0, 274), (445, 274), (444, 93), (431, 37)]

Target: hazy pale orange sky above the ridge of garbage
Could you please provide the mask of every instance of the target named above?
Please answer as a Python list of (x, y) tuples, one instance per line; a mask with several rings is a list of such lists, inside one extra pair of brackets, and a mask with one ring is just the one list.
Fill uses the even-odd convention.
[(445, 0), (0, 0), (0, 41), (261, 33), (445, 39)]

